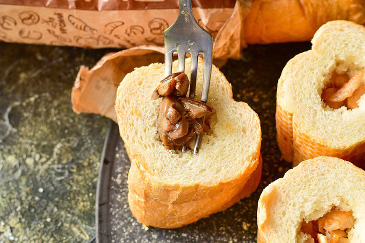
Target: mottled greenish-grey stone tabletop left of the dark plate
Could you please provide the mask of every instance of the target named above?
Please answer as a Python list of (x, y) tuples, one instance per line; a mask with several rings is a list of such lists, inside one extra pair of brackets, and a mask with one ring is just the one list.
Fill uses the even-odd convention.
[(81, 64), (110, 50), (0, 42), (0, 242), (88, 242), (108, 119), (72, 111)]

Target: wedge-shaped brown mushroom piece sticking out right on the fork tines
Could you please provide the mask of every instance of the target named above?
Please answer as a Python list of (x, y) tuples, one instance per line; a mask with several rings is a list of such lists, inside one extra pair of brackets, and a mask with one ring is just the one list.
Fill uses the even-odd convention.
[(192, 98), (178, 97), (178, 100), (184, 105), (185, 110), (192, 119), (201, 118), (205, 115), (210, 116), (215, 112), (211, 106)]

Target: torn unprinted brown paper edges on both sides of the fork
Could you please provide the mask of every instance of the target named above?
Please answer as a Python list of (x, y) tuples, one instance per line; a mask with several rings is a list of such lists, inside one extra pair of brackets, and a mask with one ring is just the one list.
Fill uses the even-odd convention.
[[(226, 58), (239, 58), (242, 20), (248, 13), (249, 2), (237, 1), (231, 15), (213, 34), (214, 64), (221, 65)], [(197, 10), (197, 9), (195, 9)], [(195, 11), (194, 11), (195, 16)], [(216, 21), (206, 15), (208, 23)], [(175, 18), (175, 16), (173, 17)], [(164, 49), (156, 45), (140, 45), (103, 56), (91, 69), (81, 66), (72, 88), (73, 110), (77, 113), (97, 113), (116, 121), (114, 110), (116, 89), (126, 73), (135, 67), (163, 62)], [(219, 58), (219, 59), (217, 59)]]

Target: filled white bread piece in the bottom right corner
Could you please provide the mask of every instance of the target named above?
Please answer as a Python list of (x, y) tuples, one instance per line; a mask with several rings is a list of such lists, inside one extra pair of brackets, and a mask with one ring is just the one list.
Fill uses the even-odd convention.
[(303, 220), (332, 207), (351, 211), (351, 243), (365, 242), (365, 171), (348, 161), (320, 156), (301, 162), (262, 191), (257, 208), (257, 243), (301, 243)]

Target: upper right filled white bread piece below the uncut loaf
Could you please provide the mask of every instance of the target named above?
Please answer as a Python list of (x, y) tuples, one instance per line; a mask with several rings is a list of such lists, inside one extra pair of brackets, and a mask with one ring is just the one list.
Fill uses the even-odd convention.
[(287, 62), (276, 95), (277, 141), (285, 160), (296, 165), (326, 155), (365, 164), (365, 95), (354, 109), (332, 109), (321, 100), (334, 70), (353, 76), (364, 69), (365, 27), (341, 20), (322, 25), (312, 49)]

